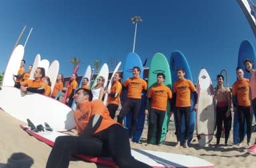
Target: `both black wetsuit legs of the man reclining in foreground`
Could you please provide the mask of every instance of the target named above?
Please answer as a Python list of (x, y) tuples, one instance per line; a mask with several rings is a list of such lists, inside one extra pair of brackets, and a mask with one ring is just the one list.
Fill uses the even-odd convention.
[(119, 167), (150, 167), (131, 155), (129, 136), (118, 124), (95, 133), (93, 137), (61, 136), (49, 155), (46, 168), (67, 168), (71, 153), (90, 156), (110, 156)]

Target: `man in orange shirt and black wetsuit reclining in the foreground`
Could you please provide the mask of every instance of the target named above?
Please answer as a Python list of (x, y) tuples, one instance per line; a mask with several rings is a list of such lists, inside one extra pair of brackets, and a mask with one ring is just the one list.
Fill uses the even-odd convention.
[[(59, 136), (47, 160), (46, 168), (67, 168), (72, 153), (111, 157), (118, 167), (150, 167), (131, 155), (127, 131), (111, 119), (101, 100), (92, 100), (90, 90), (75, 92), (75, 124), (79, 136)], [(91, 102), (90, 102), (91, 101)]]

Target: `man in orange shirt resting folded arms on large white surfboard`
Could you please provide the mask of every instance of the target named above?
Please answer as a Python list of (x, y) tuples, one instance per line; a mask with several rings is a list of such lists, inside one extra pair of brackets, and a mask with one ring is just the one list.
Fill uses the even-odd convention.
[(46, 86), (42, 81), (43, 76), (45, 76), (45, 68), (38, 67), (37, 70), (35, 70), (33, 78), (35, 80), (26, 80), (24, 82), (17, 82), (15, 83), (16, 88), (20, 88), (21, 92), (26, 93), (29, 92), (35, 92), (38, 94), (44, 94), (46, 90)]

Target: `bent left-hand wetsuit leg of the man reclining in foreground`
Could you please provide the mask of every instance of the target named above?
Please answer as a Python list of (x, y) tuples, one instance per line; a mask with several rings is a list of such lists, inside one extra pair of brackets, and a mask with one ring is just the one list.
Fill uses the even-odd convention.
[(71, 153), (97, 156), (101, 150), (102, 142), (95, 137), (60, 136), (55, 140), (46, 168), (67, 168)]

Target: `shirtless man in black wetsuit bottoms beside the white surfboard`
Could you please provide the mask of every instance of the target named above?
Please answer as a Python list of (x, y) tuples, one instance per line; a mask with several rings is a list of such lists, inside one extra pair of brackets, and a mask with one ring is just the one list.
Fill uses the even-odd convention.
[(221, 139), (221, 127), (224, 123), (225, 128), (225, 145), (227, 145), (227, 140), (229, 139), (229, 131), (231, 129), (231, 91), (229, 88), (223, 86), (224, 77), (221, 74), (217, 75), (218, 88), (215, 90), (214, 100), (215, 100), (215, 110), (216, 110), (216, 125), (217, 125), (217, 143), (219, 145), (219, 140)]

